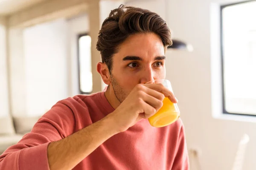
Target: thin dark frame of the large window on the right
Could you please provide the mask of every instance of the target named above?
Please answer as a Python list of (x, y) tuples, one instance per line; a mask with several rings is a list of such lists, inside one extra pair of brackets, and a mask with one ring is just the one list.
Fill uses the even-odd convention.
[(249, 114), (249, 113), (236, 113), (236, 112), (228, 112), (226, 110), (226, 103), (225, 103), (225, 77), (224, 77), (224, 43), (223, 43), (223, 9), (229, 6), (244, 4), (244, 3), (250, 3), (250, 2), (256, 2), (256, 0), (246, 0), (243, 2), (237, 2), (237, 3), (229, 3), (226, 5), (220, 6), (220, 47), (221, 47), (221, 90), (222, 90), (222, 111), (224, 114), (229, 115), (241, 115), (241, 116), (254, 116), (256, 117), (256, 113)]

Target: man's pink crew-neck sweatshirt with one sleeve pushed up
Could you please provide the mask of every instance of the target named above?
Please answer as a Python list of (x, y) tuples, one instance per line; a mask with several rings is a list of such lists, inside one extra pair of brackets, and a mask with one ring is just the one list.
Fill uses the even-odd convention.
[[(0, 156), (0, 170), (49, 170), (47, 146), (102, 119), (114, 109), (104, 92), (67, 98), (44, 114), (17, 144)], [(65, 149), (65, 148), (63, 148)], [(143, 119), (105, 141), (74, 170), (188, 170), (181, 120), (151, 127)]]

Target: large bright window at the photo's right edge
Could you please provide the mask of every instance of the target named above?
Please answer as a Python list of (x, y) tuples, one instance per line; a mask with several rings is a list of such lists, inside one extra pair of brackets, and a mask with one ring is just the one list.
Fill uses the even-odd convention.
[(256, 115), (256, 1), (221, 6), (224, 113)]

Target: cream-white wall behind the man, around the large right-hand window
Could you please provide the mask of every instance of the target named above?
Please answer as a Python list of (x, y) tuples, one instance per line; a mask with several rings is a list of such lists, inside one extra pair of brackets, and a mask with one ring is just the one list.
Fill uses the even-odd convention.
[[(210, 61), (211, 57), (214, 57), (213, 60), (218, 60), (220, 57), (218, 52), (212, 55), (214, 51), (211, 51), (210, 5), (212, 2), (234, 1), (168, 0), (166, 20), (174, 31), (174, 37), (191, 43), (194, 51), (167, 51), (166, 78), (171, 80), (175, 95), (179, 99), (178, 106), (186, 129), (188, 147), (201, 150), (202, 169), (230, 170), (239, 140), (243, 133), (247, 133), (250, 136), (250, 143), (243, 169), (255, 170), (256, 124), (212, 118), (212, 108), (215, 105), (211, 105), (213, 82)], [(164, 3), (157, 0), (150, 0), (151, 6), (148, 6), (148, 1), (138, 4), (156, 12), (161, 12), (165, 7)], [(129, 5), (137, 6), (137, 1)], [(193, 167), (192, 170), (195, 170)]]

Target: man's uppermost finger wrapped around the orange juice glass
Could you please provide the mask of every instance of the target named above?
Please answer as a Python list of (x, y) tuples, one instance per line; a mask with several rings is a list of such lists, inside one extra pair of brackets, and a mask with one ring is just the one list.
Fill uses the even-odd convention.
[(164, 94), (164, 96), (168, 97), (171, 100), (171, 102), (173, 102), (173, 103), (178, 102), (178, 100), (176, 99), (176, 97), (172, 93), (172, 91), (170, 91), (168, 88), (166, 88), (162, 84), (144, 84), (144, 85), (148, 88), (151, 88), (155, 91), (158, 91), (158, 92)]

